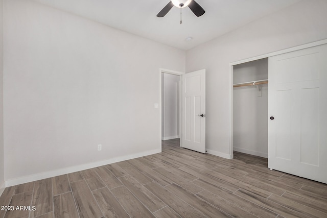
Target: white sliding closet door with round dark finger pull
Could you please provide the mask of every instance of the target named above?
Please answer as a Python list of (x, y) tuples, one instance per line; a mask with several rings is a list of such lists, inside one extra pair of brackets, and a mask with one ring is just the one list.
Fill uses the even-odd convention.
[(327, 183), (327, 44), (269, 58), (268, 167)]

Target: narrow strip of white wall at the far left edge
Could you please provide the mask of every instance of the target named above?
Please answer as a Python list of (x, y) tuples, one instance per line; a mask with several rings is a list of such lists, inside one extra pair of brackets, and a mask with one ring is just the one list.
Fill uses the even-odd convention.
[(5, 187), (3, 103), (3, 0), (0, 0), (0, 195)]

